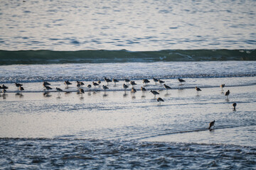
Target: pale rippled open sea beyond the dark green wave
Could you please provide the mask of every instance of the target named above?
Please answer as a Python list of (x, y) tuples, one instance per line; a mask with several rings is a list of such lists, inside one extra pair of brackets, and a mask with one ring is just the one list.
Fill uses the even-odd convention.
[(255, 0), (0, 2), (1, 50), (255, 49)]

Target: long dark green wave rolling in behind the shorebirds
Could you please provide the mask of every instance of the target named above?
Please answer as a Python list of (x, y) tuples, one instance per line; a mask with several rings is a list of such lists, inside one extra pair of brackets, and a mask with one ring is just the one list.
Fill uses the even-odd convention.
[(256, 60), (255, 50), (0, 50), (0, 65)]

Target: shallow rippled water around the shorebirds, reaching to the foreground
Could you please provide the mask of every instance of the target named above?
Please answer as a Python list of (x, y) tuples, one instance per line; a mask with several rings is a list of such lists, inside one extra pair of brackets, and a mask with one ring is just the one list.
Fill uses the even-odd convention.
[[(255, 77), (193, 79), (153, 94), (92, 88), (43, 95), (43, 90), (1, 94), (0, 166), (4, 169), (254, 169), (255, 85), (226, 86)], [(142, 80), (137, 80), (142, 85)], [(140, 82), (140, 83), (139, 83)], [(51, 82), (51, 86), (60, 86)], [(30, 83), (28, 87), (38, 85)], [(102, 82), (105, 84), (105, 82)], [(117, 86), (120, 86), (119, 82)], [(27, 86), (24, 84), (23, 86)], [(114, 87), (113, 84), (109, 87)], [(70, 87), (72, 88), (72, 87)], [(231, 91), (228, 99), (224, 92)], [(67, 91), (70, 89), (66, 89)], [(238, 103), (233, 110), (232, 103)], [(216, 120), (214, 130), (208, 123)]]

